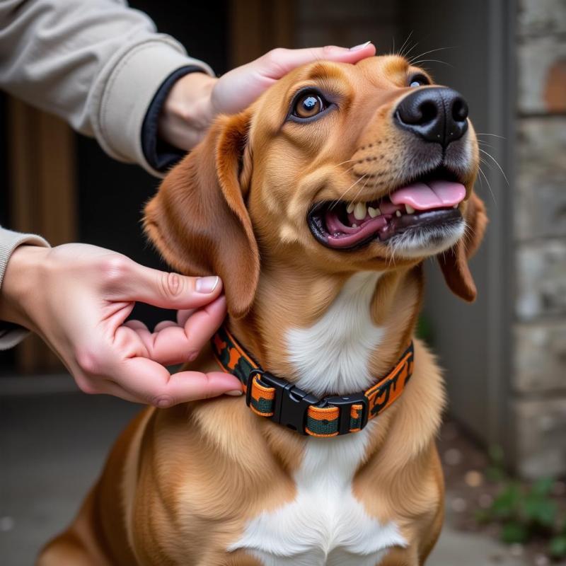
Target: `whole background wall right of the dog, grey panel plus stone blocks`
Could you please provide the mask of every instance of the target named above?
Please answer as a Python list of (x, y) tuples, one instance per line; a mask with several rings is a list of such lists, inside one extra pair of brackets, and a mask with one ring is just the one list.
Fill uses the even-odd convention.
[[(466, 25), (463, 24), (466, 23)], [(464, 306), (429, 269), (428, 313), (451, 412), (526, 477), (566, 472), (566, 2), (301, 0), (296, 45), (378, 51), (411, 41), (468, 98), (491, 190), (490, 227)], [(478, 44), (478, 37), (483, 41)], [(394, 39), (393, 39), (394, 38)], [(427, 57), (428, 58), (428, 57)], [(504, 139), (496, 137), (501, 135)]]

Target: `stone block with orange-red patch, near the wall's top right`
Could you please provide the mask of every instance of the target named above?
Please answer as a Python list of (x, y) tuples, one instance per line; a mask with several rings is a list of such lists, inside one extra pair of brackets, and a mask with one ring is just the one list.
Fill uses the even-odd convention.
[(566, 111), (566, 39), (529, 38), (517, 50), (519, 112)]

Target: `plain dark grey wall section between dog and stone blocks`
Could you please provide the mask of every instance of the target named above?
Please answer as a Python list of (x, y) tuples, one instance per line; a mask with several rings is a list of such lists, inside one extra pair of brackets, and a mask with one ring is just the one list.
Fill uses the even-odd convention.
[[(508, 0), (401, 0), (401, 36), (412, 33), (423, 66), (435, 81), (466, 98), (483, 151), (510, 173), (511, 108)], [(478, 37), (481, 38), (478, 41)], [(505, 139), (503, 139), (504, 137)], [(511, 185), (481, 154), (482, 175), (475, 191), (487, 207), (490, 224), (470, 261), (478, 298), (467, 304), (451, 294), (434, 261), (425, 262), (424, 313), (432, 327), (432, 346), (444, 369), (449, 412), (481, 444), (501, 444), (513, 460), (509, 430), (509, 346), (511, 317)], [(485, 175), (485, 178), (484, 176)]]

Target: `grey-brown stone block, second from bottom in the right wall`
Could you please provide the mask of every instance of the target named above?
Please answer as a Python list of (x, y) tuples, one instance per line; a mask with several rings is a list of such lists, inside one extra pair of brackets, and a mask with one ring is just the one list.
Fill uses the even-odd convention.
[(514, 339), (516, 391), (566, 397), (566, 320), (518, 324)]

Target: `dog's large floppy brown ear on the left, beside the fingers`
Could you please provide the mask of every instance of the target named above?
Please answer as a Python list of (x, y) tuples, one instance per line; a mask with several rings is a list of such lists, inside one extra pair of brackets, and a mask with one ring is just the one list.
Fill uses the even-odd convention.
[[(244, 316), (260, 274), (258, 244), (244, 204), (250, 115), (220, 117), (207, 137), (161, 183), (146, 205), (144, 229), (163, 258), (185, 275), (219, 275), (228, 311)], [(247, 156), (249, 160), (249, 156)]]

